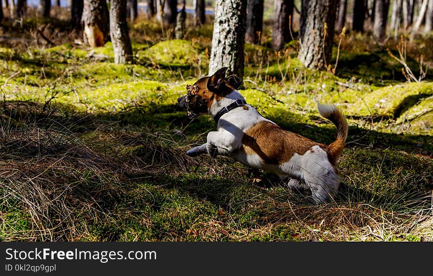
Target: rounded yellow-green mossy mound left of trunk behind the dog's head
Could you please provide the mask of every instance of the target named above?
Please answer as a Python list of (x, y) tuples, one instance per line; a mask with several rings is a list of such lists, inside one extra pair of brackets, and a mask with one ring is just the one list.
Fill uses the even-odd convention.
[(186, 67), (197, 64), (199, 56), (191, 42), (175, 39), (156, 43), (144, 51), (143, 57), (162, 66)]

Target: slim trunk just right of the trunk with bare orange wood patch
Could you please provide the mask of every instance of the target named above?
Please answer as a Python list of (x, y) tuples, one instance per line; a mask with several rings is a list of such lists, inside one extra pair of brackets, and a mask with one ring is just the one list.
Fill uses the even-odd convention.
[(110, 35), (113, 43), (114, 63), (133, 60), (131, 40), (126, 22), (126, 0), (110, 1)]

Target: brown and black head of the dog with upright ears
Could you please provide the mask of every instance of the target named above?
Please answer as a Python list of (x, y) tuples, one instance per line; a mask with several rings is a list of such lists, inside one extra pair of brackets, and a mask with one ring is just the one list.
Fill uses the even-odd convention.
[(241, 86), (242, 80), (235, 75), (225, 77), (227, 69), (222, 67), (214, 75), (201, 78), (193, 85), (186, 85), (186, 95), (178, 98), (178, 103), (182, 108), (186, 108), (190, 119), (206, 114), (214, 100)]

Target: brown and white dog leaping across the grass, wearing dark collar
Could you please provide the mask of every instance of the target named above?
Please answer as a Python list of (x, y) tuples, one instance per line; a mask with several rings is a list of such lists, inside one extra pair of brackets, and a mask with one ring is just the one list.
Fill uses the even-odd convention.
[(189, 118), (208, 113), (217, 123), (207, 143), (186, 154), (231, 155), (249, 167), (288, 179), (291, 187), (309, 188), (316, 203), (333, 200), (340, 186), (336, 163), (347, 137), (347, 122), (340, 110), (318, 104), (320, 115), (334, 123), (338, 131), (337, 139), (329, 146), (314, 142), (261, 116), (236, 90), (242, 80), (233, 75), (226, 78), (226, 71), (227, 67), (223, 67), (213, 76), (186, 85), (186, 95), (178, 98)]

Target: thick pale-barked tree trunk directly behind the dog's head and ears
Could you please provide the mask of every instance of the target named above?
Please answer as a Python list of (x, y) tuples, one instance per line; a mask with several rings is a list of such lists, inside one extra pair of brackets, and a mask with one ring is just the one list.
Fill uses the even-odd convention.
[(216, 0), (209, 75), (226, 66), (228, 73), (244, 76), (246, 13), (244, 0)]

